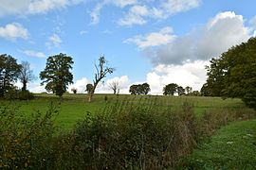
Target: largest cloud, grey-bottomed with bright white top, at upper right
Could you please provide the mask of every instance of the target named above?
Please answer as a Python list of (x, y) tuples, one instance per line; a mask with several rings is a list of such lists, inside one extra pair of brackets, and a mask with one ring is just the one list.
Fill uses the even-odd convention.
[(146, 49), (144, 53), (156, 65), (183, 64), (218, 57), (232, 45), (246, 42), (249, 37), (250, 29), (244, 25), (243, 16), (227, 11), (218, 13), (200, 29), (176, 37), (156, 50)]

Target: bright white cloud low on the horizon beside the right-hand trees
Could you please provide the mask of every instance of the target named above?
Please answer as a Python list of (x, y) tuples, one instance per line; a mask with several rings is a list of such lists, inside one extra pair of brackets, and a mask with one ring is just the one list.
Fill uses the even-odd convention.
[(208, 61), (196, 60), (184, 65), (155, 66), (152, 72), (147, 74), (147, 82), (151, 87), (152, 94), (162, 94), (163, 87), (170, 83), (176, 83), (183, 88), (192, 87), (200, 91), (206, 81), (205, 66)]

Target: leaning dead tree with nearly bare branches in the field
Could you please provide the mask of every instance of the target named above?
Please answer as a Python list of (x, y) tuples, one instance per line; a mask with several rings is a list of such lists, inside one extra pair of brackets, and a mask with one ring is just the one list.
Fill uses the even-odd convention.
[(96, 68), (96, 74), (95, 74), (95, 78), (93, 80), (93, 88), (90, 92), (88, 91), (88, 93), (89, 93), (88, 101), (89, 102), (92, 101), (93, 94), (95, 93), (95, 90), (96, 90), (98, 84), (101, 82), (101, 79), (106, 77), (107, 74), (112, 74), (115, 71), (115, 68), (107, 66), (107, 61), (104, 58), (104, 56), (100, 57), (99, 65), (95, 64), (95, 68)]

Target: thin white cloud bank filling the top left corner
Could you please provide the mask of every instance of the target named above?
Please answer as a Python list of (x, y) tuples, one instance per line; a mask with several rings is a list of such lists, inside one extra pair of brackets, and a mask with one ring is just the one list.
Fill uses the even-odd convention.
[(1, 0), (0, 16), (46, 13), (56, 8), (65, 8), (82, 0)]

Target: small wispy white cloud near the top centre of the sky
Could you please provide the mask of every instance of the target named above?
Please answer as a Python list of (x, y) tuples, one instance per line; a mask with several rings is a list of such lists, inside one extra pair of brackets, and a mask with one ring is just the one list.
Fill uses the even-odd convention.
[(119, 20), (120, 26), (144, 25), (147, 21), (143, 18), (149, 14), (146, 6), (134, 6), (130, 8), (128, 14)]

